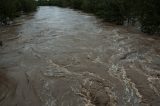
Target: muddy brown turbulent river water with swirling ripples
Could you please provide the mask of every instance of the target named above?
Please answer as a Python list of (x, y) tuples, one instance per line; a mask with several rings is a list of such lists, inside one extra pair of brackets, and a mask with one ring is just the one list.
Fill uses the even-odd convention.
[(159, 37), (40, 7), (0, 40), (0, 106), (160, 106)]

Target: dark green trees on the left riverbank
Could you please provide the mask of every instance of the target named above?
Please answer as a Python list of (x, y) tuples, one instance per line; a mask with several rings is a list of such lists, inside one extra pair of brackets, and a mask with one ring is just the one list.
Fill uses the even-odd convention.
[(0, 0), (0, 23), (19, 16), (22, 12), (31, 12), (36, 9), (35, 0)]

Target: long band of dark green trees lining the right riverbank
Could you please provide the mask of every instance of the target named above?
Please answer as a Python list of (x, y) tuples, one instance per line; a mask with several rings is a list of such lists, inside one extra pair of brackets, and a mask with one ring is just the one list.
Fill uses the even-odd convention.
[(39, 5), (71, 7), (116, 24), (139, 22), (146, 33), (160, 33), (160, 0), (39, 0)]

